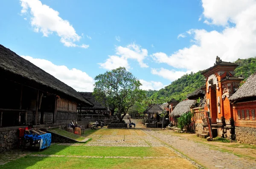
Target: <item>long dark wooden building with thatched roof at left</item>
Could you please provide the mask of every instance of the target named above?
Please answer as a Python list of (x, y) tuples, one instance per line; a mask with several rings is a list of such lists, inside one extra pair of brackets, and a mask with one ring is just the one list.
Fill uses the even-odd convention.
[(72, 87), (3, 45), (0, 79), (0, 131), (28, 124), (68, 124), (77, 118), (78, 104), (93, 107)]

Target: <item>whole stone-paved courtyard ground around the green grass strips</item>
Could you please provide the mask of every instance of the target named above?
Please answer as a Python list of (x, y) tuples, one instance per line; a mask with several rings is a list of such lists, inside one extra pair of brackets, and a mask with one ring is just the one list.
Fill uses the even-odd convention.
[[(26, 155), (34, 157), (71, 157), (71, 158), (134, 158), (134, 159), (166, 159), (175, 160), (175, 156), (191, 163), (196, 168), (209, 169), (256, 169), (256, 160), (241, 158), (232, 153), (212, 149), (207, 144), (198, 143), (179, 135), (174, 135), (169, 130), (146, 129), (138, 125), (135, 129), (100, 129), (86, 138), (93, 138), (86, 144), (58, 143), (65, 146), (123, 146), (123, 147), (156, 147), (169, 149), (173, 154), (165, 157), (126, 157), (126, 156), (79, 156), (79, 155), (40, 155), (32, 152), (12, 150), (0, 155), (0, 165)], [(169, 151), (168, 150), (168, 151)]]

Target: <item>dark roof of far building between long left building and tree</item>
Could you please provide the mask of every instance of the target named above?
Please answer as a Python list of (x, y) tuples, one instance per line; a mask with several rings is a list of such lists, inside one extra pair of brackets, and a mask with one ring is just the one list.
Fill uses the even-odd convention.
[[(91, 101), (94, 104), (93, 107), (82, 107), (82, 110), (105, 110), (105, 111), (108, 110), (108, 108), (104, 104), (101, 104), (96, 101), (92, 92), (78, 92), (78, 93), (80, 93), (81, 96), (88, 99), (89, 101)], [(77, 107), (77, 108), (79, 109), (79, 107)]]

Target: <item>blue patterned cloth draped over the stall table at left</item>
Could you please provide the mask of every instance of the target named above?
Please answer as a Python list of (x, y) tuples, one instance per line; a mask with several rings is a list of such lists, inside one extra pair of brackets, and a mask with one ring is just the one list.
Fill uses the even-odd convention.
[(49, 147), (52, 142), (51, 133), (46, 133), (42, 135), (24, 135), (25, 140), (35, 141), (35, 144), (39, 143), (39, 149), (44, 149)]

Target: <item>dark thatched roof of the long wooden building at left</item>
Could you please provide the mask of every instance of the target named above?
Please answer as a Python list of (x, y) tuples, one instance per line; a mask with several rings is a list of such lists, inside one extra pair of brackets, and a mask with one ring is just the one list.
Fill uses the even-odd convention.
[(2, 79), (8, 79), (29, 87), (53, 93), (79, 104), (93, 106), (72, 87), (66, 85), (54, 76), (0, 45), (0, 74)]

